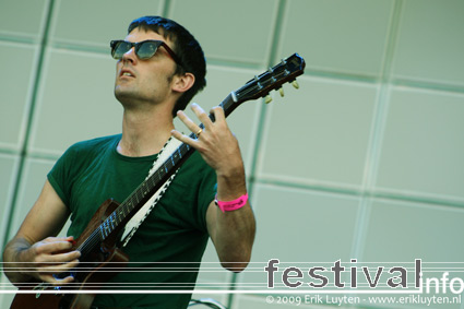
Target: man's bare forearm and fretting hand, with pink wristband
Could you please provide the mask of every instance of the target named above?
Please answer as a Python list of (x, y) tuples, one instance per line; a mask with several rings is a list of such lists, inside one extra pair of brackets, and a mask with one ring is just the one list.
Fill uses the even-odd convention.
[[(211, 121), (199, 105), (192, 104), (192, 110), (204, 124), (198, 140), (176, 130), (172, 135), (199, 151), (214, 168), (219, 201), (233, 201), (245, 195), (247, 186), (243, 161), (238, 141), (227, 126), (224, 110), (221, 107), (213, 108), (215, 122)], [(199, 132), (200, 128), (183, 111), (177, 115), (192, 132)], [(242, 271), (250, 261), (255, 233), (250, 203), (247, 202), (239, 210), (223, 213), (213, 201), (207, 209), (206, 224), (222, 265), (230, 271)]]

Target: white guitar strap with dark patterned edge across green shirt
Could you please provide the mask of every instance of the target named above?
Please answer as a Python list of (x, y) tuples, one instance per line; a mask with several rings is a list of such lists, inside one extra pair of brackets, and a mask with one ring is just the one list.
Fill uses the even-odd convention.
[[(153, 162), (153, 166), (148, 171), (148, 176), (146, 176), (145, 180), (152, 176), (162, 165), (168, 159), (171, 154), (179, 147), (181, 142), (177, 139), (169, 138), (164, 147), (158, 154), (158, 157)], [(135, 234), (140, 225), (145, 221), (148, 214), (153, 211), (156, 203), (163, 197), (163, 193), (167, 190), (174, 177), (176, 177), (177, 171), (169, 177), (168, 180), (152, 195), (152, 198), (136, 212), (136, 214), (124, 226), (124, 231), (121, 236), (122, 247), (126, 247), (132, 236)]]

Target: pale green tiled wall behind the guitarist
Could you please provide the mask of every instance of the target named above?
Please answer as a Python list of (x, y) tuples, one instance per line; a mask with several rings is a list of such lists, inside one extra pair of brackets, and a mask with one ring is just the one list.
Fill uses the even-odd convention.
[[(262, 287), (274, 258), (464, 262), (462, 0), (0, 0), (1, 247), (69, 145), (120, 132), (108, 45), (148, 14), (202, 44), (205, 108), (293, 52), (307, 62), (300, 90), (230, 116), (258, 218), (253, 263), (238, 276), (204, 269), (200, 283)], [(204, 260), (217, 266), (211, 248)]]

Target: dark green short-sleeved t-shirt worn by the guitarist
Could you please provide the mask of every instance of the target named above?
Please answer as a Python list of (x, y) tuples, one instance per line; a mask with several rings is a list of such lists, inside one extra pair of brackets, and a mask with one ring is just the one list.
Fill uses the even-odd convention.
[[(78, 238), (104, 201), (124, 201), (147, 176), (157, 155), (123, 156), (116, 151), (120, 139), (118, 134), (76, 143), (48, 174), (49, 182), (71, 210), (68, 235)], [(194, 152), (123, 248), (133, 269), (115, 276), (109, 283), (116, 285), (110, 288), (122, 284), (124, 289), (193, 289), (209, 238), (206, 210), (215, 190), (214, 170)], [(98, 294), (93, 305), (174, 309), (186, 308), (190, 297)]]

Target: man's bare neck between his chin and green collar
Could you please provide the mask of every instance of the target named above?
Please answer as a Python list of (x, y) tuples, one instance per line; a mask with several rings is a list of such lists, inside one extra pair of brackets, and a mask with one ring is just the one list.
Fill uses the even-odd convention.
[(122, 119), (122, 139), (118, 152), (126, 156), (157, 154), (174, 129), (170, 110), (128, 110)]

